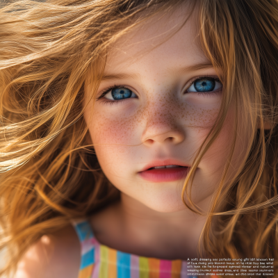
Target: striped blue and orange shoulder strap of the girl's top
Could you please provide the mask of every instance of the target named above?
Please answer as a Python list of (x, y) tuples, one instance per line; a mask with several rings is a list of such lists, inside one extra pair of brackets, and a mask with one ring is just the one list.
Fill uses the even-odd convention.
[(95, 240), (92, 227), (88, 220), (73, 220), (72, 224), (81, 244), (81, 264), (79, 277), (84, 277), (81, 272), (92, 271), (95, 263)]

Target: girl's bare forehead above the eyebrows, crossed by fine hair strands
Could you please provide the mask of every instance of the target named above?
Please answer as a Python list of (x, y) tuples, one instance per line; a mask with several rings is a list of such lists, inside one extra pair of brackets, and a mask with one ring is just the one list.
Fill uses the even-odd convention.
[(113, 44), (104, 74), (126, 71), (136, 74), (157, 68), (175, 71), (187, 65), (209, 63), (199, 47), (197, 10), (190, 17), (188, 13), (186, 5), (180, 6), (172, 13), (158, 13), (131, 29)]

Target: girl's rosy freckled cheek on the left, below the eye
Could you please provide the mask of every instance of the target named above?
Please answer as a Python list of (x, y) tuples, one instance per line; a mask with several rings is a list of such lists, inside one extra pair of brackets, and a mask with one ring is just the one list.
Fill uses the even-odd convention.
[(104, 108), (95, 107), (87, 123), (99, 164), (106, 176), (124, 175), (124, 165), (129, 165), (138, 156), (138, 149), (133, 147), (138, 145), (133, 117), (122, 113), (122, 110), (115, 109), (113, 113), (110, 109), (106, 113)]

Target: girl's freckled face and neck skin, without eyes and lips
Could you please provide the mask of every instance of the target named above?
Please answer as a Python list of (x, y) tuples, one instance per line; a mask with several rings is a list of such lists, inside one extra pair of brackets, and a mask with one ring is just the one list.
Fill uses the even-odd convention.
[[(95, 106), (90, 101), (85, 108), (101, 169), (121, 191), (120, 202), (92, 216), (95, 236), (117, 250), (159, 259), (197, 257), (206, 216), (183, 204), (184, 179), (156, 183), (138, 172), (167, 158), (190, 166), (215, 122), (222, 97), (219, 76), (197, 43), (196, 15), (170, 36), (185, 15), (183, 7), (167, 19), (149, 19), (118, 40), (108, 55)], [(218, 89), (194, 91), (195, 80), (202, 77), (214, 79)], [(133, 92), (131, 97), (113, 99), (109, 88), (115, 85)], [(90, 81), (85, 97), (90, 98)], [(204, 211), (227, 160), (231, 119), (229, 113), (193, 182), (193, 202)]]

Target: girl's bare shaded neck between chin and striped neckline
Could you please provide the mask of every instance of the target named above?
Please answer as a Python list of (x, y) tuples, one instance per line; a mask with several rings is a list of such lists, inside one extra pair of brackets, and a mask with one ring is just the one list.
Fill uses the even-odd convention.
[[(210, 200), (197, 205), (207, 211)], [(92, 220), (95, 236), (108, 247), (139, 256), (187, 260), (199, 257), (197, 245), (206, 216), (193, 213), (186, 206), (180, 211), (154, 211), (122, 194), (120, 202)]]

